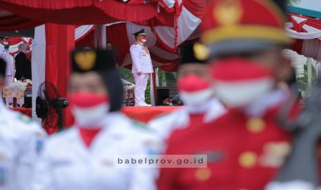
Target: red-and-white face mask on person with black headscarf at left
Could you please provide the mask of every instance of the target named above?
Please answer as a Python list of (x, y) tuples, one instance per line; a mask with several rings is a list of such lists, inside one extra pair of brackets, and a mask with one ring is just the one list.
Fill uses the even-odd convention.
[(101, 126), (109, 111), (109, 97), (106, 95), (76, 92), (68, 95), (75, 123), (81, 127)]

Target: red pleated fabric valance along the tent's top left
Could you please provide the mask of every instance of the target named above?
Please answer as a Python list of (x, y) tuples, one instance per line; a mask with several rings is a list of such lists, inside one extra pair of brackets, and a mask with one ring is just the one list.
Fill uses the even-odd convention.
[(174, 25), (175, 11), (165, 10), (158, 0), (148, 1), (148, 3), (135, 2), (135, 0), (133, 3), (130, 2), (124, 3), (121, 0), (1, 0), (0, 30), (32, 28), (42, 23), (84, 25), (130, 21), (142, 25)]

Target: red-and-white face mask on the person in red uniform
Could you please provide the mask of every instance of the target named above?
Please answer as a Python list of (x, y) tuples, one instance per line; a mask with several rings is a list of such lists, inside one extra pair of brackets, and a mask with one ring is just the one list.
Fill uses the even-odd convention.
[(217, 98), (231, 107), (243, 107), (273, 89), (272, 71), (259, 62), (242, 58), (217, 60), (212, 76)]

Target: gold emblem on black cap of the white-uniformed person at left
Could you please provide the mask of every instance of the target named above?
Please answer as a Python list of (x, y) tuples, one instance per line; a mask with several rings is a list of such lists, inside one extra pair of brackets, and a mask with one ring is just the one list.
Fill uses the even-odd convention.
[(81, 70), (91, 70), (95, 66), (96, 53), (94, 51), (79, 52), (75, 54), (75, 62)]

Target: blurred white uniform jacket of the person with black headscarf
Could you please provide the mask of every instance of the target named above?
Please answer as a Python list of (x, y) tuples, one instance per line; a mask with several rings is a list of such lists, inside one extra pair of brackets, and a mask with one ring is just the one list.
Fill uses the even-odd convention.
[(119, 112), (86, 147), (76, 127), (61, 131), (45, 144), (37, 164), (33, 190), (153, 190), (155, 169), (119, 168), (119, 155), (146, 155), (135, 123)]

